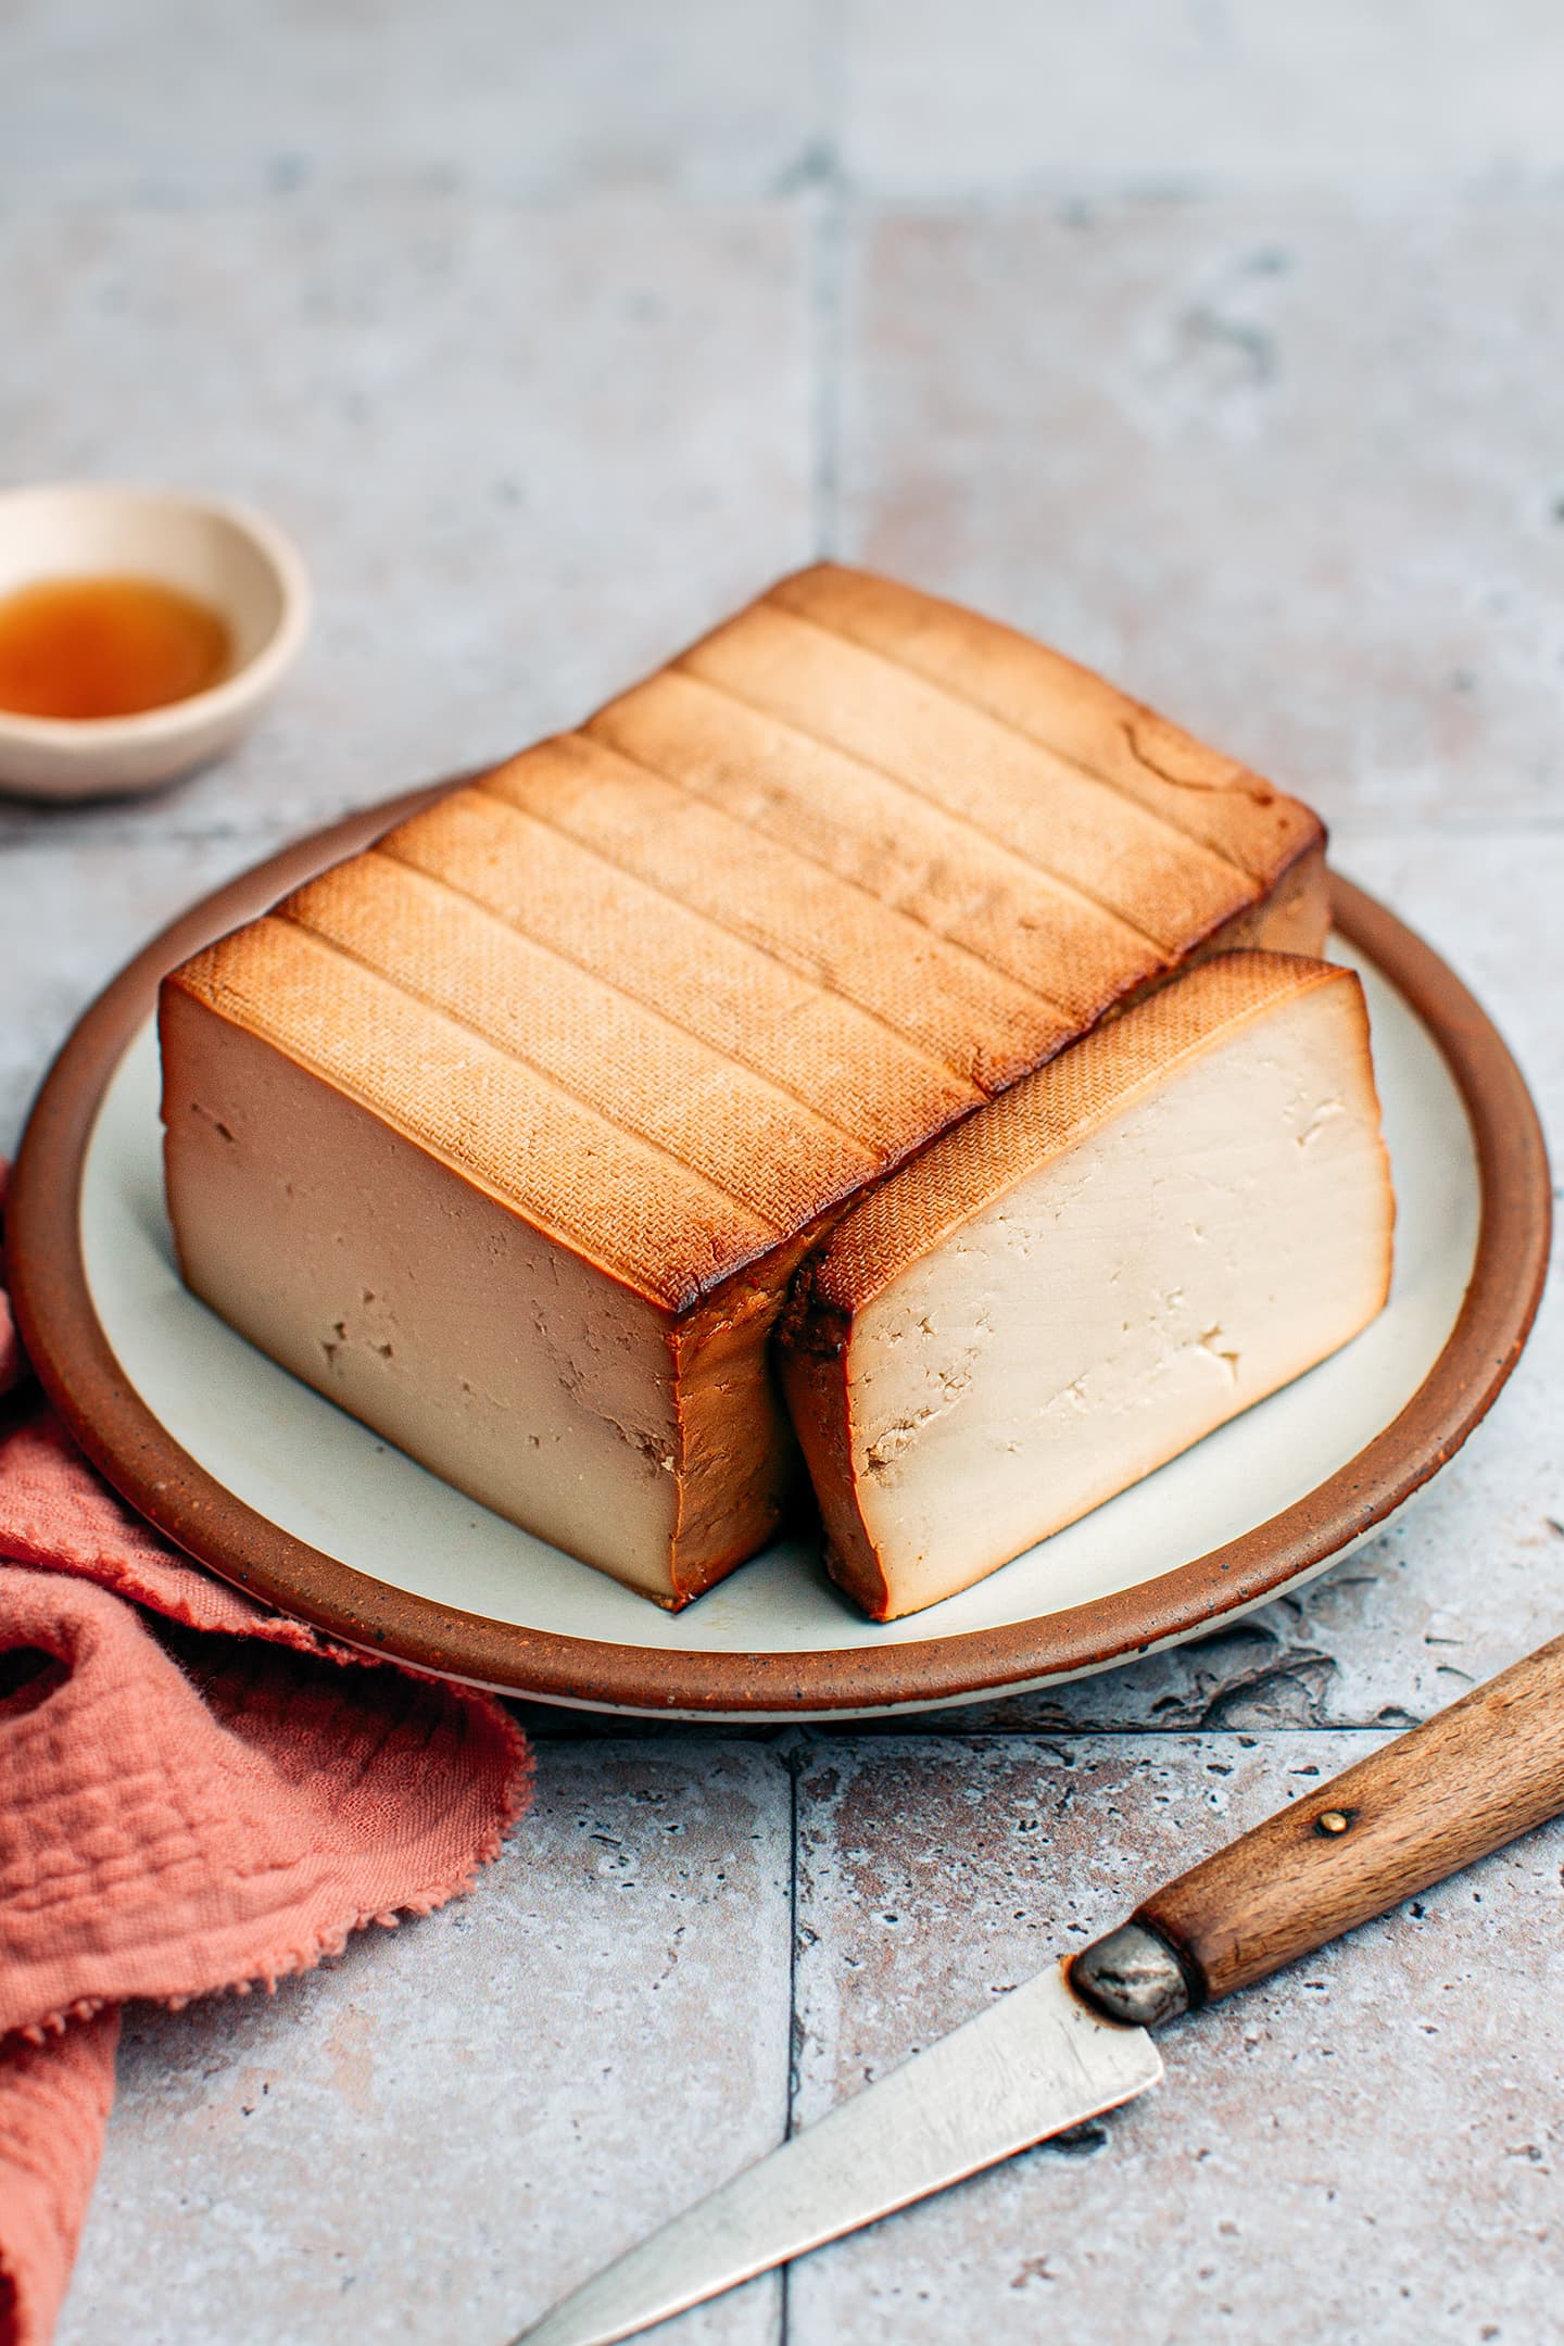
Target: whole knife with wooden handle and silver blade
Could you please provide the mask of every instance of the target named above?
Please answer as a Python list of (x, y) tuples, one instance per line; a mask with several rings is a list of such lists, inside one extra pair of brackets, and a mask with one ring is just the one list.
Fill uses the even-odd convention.
[(1151, 2029), (1564, 1813), (1564, 1638), (1142, 1900), (565, 2297), (511, 2346), (614, 2346), (1135, 2100)]

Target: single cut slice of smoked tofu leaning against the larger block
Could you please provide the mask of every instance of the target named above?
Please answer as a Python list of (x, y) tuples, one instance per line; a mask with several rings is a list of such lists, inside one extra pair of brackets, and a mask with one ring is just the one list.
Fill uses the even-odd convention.
[(783, 1384), (835, 1577), (889, 1621), (1128, 1490), (1374, 1318), (1393, 1220), (1355, 974), (1172, 978), (800, 1274)]

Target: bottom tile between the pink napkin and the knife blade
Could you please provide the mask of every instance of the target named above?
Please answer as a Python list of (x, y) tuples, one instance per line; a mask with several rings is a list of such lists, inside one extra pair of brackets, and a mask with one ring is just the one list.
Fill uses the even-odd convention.
[[(131, 2015), (61, 2346), (537, 2320), (778, 2140), (788, 1846), (755, 1745), (556, 1752), (478, 1896), (277, 1996)], [(671, 2346), (769, 2341), (776, 2290)]]

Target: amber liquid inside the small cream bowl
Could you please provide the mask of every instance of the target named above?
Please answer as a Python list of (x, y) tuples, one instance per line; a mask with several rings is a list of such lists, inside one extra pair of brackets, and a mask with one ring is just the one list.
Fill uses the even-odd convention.
[(227, 622), (162, 579), (35, 579), (0, 596), (0, 711), (131, 718), (227, 676)]

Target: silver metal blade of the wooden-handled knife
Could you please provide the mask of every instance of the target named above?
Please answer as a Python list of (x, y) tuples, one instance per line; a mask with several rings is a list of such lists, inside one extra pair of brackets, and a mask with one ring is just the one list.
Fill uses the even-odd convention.
[(837, 2102), (793, 2142), (584, 2283), (511, 2346), (614, 2346), (1133, 2102), (1161, 2074), (1147, 2032), (1100, 2020), (1058, 1964)]

